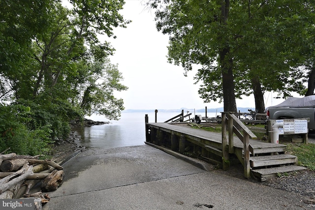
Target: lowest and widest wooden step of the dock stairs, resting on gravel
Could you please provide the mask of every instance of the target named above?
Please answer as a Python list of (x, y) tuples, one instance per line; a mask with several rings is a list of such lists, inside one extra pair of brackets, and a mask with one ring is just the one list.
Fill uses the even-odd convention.
[(266, 168), (266, 169), (252, 169), (252, 175), (260, 179), (260, 181), (265, 181), (267, 179), (277, 177), (278, 174), (285, 173), (285, 172), (293, 172), (293, 171), (300, 171), (305, 170), (307, 168), (303, 166), (297, 165), (288, 165), (288, 166), (281, 166), (281, 167), (273, 167), (273, 168)]

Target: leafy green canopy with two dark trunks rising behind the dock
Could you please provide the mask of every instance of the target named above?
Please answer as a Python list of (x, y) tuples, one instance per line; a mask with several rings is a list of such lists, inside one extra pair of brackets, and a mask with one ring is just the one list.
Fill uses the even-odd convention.
[[(157, 29), (169, 34), (168, 58), (203, 84), (206, 101), (223, 99), (224, 110), (235, 112), (235, 98), (254, 93), (256, 108), (264, 110), (264, 91), (286, 97), (301, 91), (303, 63), (298, 55), (301, 30), (314, 26), (313, 5), (299, 0), (152, 0)], [(291, 39), (290, 36), (296, 36)], [(300, 43), (300, 42), (298, 42)], [(293, 52), (293, 53), (292, 53)], [(233, 95), (233, 96), (232, 96)]]

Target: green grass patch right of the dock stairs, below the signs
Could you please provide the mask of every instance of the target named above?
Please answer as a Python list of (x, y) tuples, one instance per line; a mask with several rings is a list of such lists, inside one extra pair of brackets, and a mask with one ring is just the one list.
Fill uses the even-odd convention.
[(286, 145), (286, 151), (297, 156), (298, 165), (315, 171), (315, 144), (282, 143)]

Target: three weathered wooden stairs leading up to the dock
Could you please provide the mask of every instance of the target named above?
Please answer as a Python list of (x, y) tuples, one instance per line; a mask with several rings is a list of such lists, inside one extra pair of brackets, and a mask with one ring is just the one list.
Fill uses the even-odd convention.
[(297, 157), (286, 154), (286, 146), (282, 144), (269, 144), (270, 147), (252, 148), (250, 166), (253, 178), (265, 181), (277, 177), (279, 174), (306, 169), (297, 166)]

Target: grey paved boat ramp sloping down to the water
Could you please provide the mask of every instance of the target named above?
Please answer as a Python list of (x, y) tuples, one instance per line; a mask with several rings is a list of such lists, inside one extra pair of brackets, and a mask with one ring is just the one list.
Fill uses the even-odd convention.
[(86, 150), (63, 164), (43, 210), (304, 210), (307, 198), (217, 171), (148, 145)]

